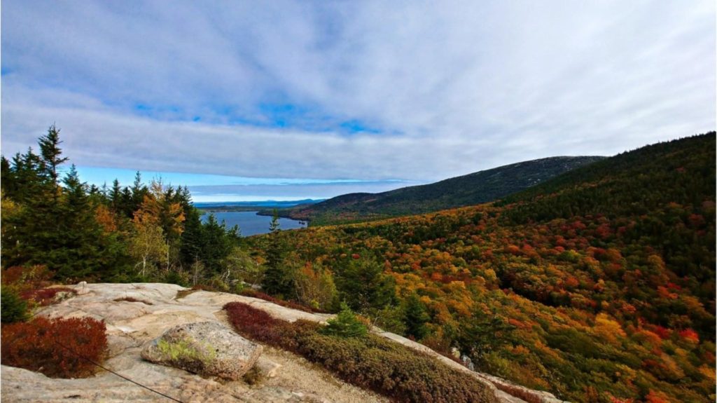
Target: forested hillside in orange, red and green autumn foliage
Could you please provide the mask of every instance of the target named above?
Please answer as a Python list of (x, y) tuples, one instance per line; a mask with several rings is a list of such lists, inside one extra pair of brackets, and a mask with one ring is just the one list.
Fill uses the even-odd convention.
[(272, 292), (301, 300), (288, 279), (328, 276), (379, 326), (528, 387), (575, 402), (713, 402), (715, 147), (707, 133), (492, 205), (254, 241), (294, 262), (267, 270), (265, 283), (284, 281)]

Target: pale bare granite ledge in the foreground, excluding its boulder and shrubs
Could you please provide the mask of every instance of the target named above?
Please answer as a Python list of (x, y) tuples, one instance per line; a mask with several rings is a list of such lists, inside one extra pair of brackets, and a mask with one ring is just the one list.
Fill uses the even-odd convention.
[[(252, 350), (249, 345), (244, 345), (247, 346), (242, 354), (244, 363), (231, 370), (228, 370), (230, 366), (225, 368), (224, 364), (217, 364), (221, 361), (199, 369), (187, 368), (191, 372), (204, 374), (203, 376), (174, 366), (153, 364), (142, 358), (143, 351), (147, 351), (144, 354), (147, 358), (157, 352), (151, 353), (152, 346), (158, 346), (159, 340), (166, 340), (167, 343), (181, 340), (184, 347), (194, 346), (189, 349), (191, 351), (196, 351), (196, 346), (214, 346), (213, 357), (208, 350), (204, 351), (206, 356), (196, 354), (204, 360), (219, 357), (228, 359), (231, 354), (239, 354), (237, 351), (228, 351), (228, 346), (237, 342), (233, 337), (240, 337), (234, 333), (222, 310), (224, 304), (229, 302), (250, 304), (285, 321), (305, 319), (325, 322), (331, 318), (330, 315), (305, 313), (242, 295), (193, 292), (171, 284), (81, 284), (74, 288), (81, 291), (80, 295), (43, 308), (39, 315), (50, 318), (90, 316), (105, 321), (109, 351), (103, 365), (117, 374), (181, 402), (388, 401), (373, 392), (346, 384), (300, 356), (270, 347), (265, 347), (262, 351), (262, 346), (256, 346)], [(184, 330), (178, 332), (176, 329)], [(225, 331), (229, 333), (224, 333)], [(161, 338), (165, 333), (171, 337)], [(536, 392), (503, 379), (472, 372), (407, 338), (380, 330), (376, 333), (424, 351), (460, 371), (470, 372), (476, 381), (488, 385), (494, 391), (495, 402), (561, 402), (546, 392)], [(224, 337), (232, 338), (233, 341), (222, 341)], [(189, 342), (191, 340), (199, 344), (192, 344)], [(165, 352), (167, 351), (165, 347)], [(260, 374), (262, 381), (250, 385), (243, 380), (236, 380), (237, 374), (252, 366)], [(206, 371), (209, 368), (212, 370)], [(229, 373), (232, 375), (225, 376)], [(513, 396), (503, 392), (504, 390)], [(3, 402), (171, 401), (108, 371), (100, 371), (89, 379), (50, 379), (42, 374), (9, 366), (1, 368), (0, 393)]]

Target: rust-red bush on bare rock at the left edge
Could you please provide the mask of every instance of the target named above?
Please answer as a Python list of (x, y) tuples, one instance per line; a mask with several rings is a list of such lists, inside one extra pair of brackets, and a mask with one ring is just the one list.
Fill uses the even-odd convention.
[[(35, 318), (2, 327), (3, 365), (58, 378), (90, 376), (107, 349), (105, 323), (92, 318)], [(83, 358), (84, 357), (84, 358)]]

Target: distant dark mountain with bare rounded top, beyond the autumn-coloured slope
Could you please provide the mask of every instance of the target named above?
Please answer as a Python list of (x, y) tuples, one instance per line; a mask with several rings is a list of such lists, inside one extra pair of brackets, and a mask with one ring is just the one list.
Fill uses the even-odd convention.
[(382, 193), (352, 193), (285, 210), (282, 215), (313, 225), (357, 222), (435, 212), (499, 199), (571, 169), (602, 160), (599, 156), (551, 157), (408, 186)]

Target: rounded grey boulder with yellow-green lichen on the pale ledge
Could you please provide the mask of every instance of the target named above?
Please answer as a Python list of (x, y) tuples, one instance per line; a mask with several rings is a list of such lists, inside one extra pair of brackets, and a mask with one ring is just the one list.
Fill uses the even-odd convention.
[(222, 323), (198, 322), (170, 328), (148, 343), (142, 358), (195, 374), (237, 380), (254, 366), (262, 349)]

